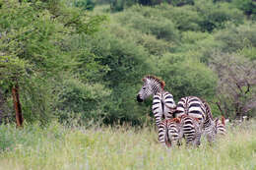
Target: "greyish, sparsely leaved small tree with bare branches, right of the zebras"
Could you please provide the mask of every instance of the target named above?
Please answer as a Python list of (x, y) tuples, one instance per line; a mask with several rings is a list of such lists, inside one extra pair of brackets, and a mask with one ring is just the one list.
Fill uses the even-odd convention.
[(249, 115), (256, 108), (256, 63), (242, 56), (216, 53), (212, 66), (219, 76), (216, 104), (221, 112), (236, 119)]

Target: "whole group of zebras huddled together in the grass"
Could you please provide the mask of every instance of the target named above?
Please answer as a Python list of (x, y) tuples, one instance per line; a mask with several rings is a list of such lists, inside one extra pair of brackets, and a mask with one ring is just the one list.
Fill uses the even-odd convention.
[(146, 76), (137, 95), (143, 102), (153, 95), (152, 111), (159, 130), (159, 141), (165, 146), (186, 144), (199, 146), (201, 136), (215, 142), (217, 135), (225, 135), (224, 117), (214, 119), (209, 104), (197, 96), (182, 97), (177, 104), (170, 92), (164, 90), (164, 82), (155, 76)]

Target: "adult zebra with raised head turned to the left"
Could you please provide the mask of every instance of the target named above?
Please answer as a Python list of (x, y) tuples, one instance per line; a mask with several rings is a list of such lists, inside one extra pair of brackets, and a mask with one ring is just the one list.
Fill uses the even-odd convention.
[[(163, 89), (165, 83), (155, 76), (146, 76), (143, 79), (144, 85), (137, 95), (137, 101), (143, 102), (146, 98), (153, 95), (152, 112), (159, 128), (161, 119), (173, 118), (173, 112), (176, 109), (173, 96)], [(163, 142), (164, 139), (159, 139)]]

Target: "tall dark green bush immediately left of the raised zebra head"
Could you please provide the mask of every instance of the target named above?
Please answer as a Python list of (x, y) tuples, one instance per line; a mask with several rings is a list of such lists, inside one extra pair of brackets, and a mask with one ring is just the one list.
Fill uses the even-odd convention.
[(141, 110), (145, 108), (138, 107), (135, 101), (138, 88), (134, 84), (150, 69), (148, 53), (133, 41), (120, 39), (107, 31), (88, 37), (87, 45), (90, 53), (98, 56), (98, 64), (108, 67), (101, 80), (97, 80), (112, 89), (105, 107), (108, 114), (103, 121), (141, 123), (144, 115)]

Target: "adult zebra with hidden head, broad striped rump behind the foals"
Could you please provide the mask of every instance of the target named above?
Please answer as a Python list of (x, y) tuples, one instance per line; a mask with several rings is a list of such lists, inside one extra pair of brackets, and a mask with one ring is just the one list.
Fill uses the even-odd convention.
[(207, 141), (210, 143), (215, 142), (217, 127), (213, 119), (211, 108), (205, 100), (197, 96), (182, 97), (177, 103), (174, 114), (175, 117), (189, 115), (198, 119)]

